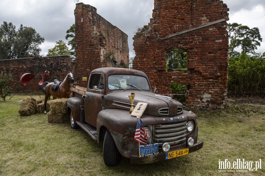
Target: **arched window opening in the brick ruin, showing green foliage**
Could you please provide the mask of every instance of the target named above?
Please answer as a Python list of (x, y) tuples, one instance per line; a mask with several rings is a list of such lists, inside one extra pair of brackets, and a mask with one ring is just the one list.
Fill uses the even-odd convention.
[(188, 53), (180, 48), (172, 48), (166, 53), (166, 70), (187, 73)]

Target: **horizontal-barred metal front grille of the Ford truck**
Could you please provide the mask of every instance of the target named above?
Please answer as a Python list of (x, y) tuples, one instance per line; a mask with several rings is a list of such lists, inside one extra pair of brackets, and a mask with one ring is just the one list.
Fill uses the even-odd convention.
[(183, 143), (186, 140), (186, 122), (154, 125), (153, 142), (161, 146), (164, 142), (170, 145)]

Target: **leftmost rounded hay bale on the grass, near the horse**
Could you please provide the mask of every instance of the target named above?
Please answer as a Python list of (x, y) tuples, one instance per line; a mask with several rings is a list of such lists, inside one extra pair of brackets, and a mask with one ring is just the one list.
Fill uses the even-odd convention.
[(36, 113), (37, 101), (35, 98), (27, 97), (22, 100), (19, 107), (20, 116), (28, 116)]

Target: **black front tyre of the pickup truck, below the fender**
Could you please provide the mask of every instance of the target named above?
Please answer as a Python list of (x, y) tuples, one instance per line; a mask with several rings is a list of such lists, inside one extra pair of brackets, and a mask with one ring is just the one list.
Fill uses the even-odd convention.
[(107, 166), (117, 166), (121, 160), (121, 154), (108, 130), (104, 137), (103, 160)]

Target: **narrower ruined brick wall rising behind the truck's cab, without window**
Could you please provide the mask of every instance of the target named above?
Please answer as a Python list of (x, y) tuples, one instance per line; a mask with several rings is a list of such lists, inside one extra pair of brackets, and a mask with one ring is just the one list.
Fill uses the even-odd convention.
[(129, 64), (127, 34), (98, 15), (93, 6), (78, 3), (74, 15), (77, 56), (74, 74), (79, 86), (87, 87), (82, 77), (88, 79), (96, 68)]

